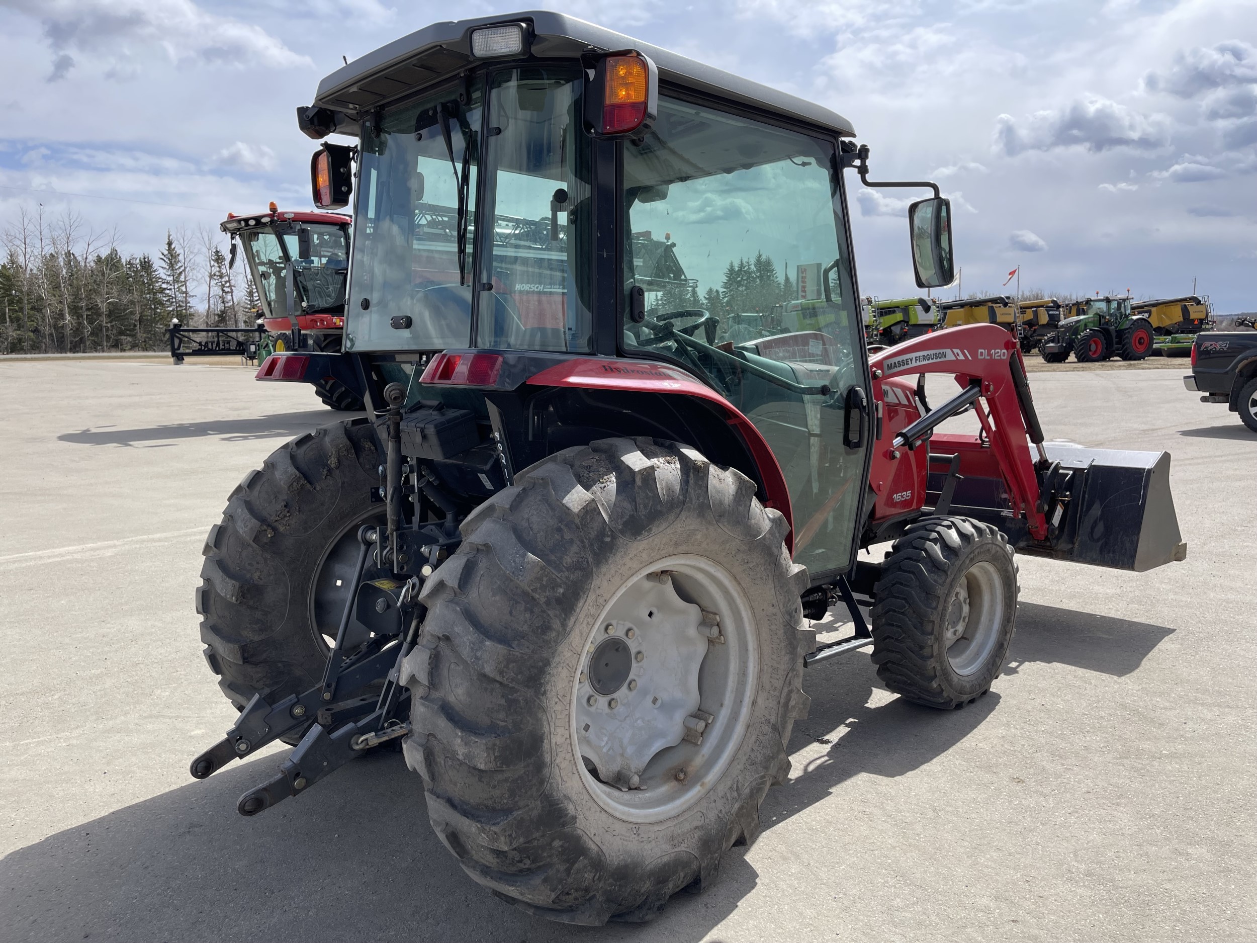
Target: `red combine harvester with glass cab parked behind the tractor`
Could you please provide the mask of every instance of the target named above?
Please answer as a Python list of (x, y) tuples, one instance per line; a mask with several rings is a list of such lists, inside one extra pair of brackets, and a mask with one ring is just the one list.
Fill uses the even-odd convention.
[[(341, 356), (349, 218), (279, 210), (272, 202), (265, 212), (229, 212), (219, 229), (231, 238), (230, 265), (244, 249), (249, 278), (258, 292), (264, 327), (258, 343), (263, 362), (258, 378), (273, 378), (264, 376), (270, 353), (297, 353), (302, 360), (285, 362), (289, 373), (295, 373), (299, 363), (302, 382), (313, 385), (324, 405), (361, 410), (363, 377), (352, 358)], [(275, 361), (270, 365), (274, 372)]]

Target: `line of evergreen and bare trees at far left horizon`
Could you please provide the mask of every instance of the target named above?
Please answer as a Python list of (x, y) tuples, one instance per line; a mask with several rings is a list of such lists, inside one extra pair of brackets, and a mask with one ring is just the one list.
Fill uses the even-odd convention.
[(0, 231), (0, 353), (101, 353), (168, 346), (185, 327), (250, 327), (258, 308), (225, 238), (167, 230), (156, 258), (124, 255), (117, 230), (98, 233), (72, 211), (48, 219), (21, 207)]

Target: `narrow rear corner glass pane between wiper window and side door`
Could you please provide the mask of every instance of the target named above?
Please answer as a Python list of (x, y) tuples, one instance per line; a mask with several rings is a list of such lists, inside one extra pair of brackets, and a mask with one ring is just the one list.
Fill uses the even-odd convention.
[(493, 79), (489, 124), (500, 132), (490, 131), (485, 153), (494, 228), (479, 265), (493, 290), (480, 293), (480, 347), (590, 350), (582, 87), (576, 69), (512, 69)]

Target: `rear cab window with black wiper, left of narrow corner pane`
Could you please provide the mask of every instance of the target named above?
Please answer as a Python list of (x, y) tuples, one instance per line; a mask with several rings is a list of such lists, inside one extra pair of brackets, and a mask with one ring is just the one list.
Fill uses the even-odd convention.
[(480, 97), (446, 89), (363, 123), (347, 350), (470, 345)]

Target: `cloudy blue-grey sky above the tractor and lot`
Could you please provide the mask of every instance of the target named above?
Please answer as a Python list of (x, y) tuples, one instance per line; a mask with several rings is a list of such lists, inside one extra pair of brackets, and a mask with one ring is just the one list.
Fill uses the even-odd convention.
[[(295, 107), (342, 55), (450, 9), (0, 0), (0, 229), (19, 206), (70, 207), (148, 250), (170, 226), (308, 205)], [(1022, 265), (1023, 288), (1164, 297), (1194, 278), (1219, 313), (1257, 309), (1257, 0), (553, 9), (847, 116), (875, 177), (930, 175), (953, 197), (965, 293)], [(862, 290), (915, 293), (905, 201), (852, 192)]]

